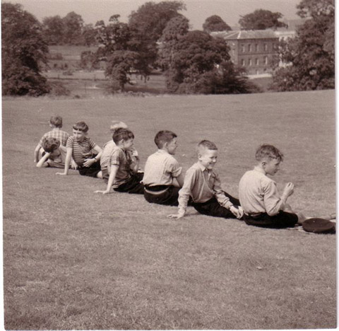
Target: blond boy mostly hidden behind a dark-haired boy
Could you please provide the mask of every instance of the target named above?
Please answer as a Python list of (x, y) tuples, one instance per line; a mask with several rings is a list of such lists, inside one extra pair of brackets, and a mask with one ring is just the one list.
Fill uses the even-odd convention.
[[(111, 127), (110, 127), (111, 134), (113, 135), (115, 130), (119, 129), (119, 127), (127, 129), (127, 125), (124, 122), (112, 121)], [(109, 170), (108, 170), (109, 158), (111, 156), (111, 153), (114, 147), (117, 147), (117, 145), (114, 143), (113, 139), (111, 139), (110, 141), (107, 141), (107, 143), (102, 147), (100, 167), (102, 171), (102, 178), (104, 180), (108, 180), (109, 178)], [(132, 148), (130, 154), (131, 154), (131, 159), (133, 160), (133, 163), (134, 164), (138, 163), (139, 156), (138, 156), (138, 152), (136, 151), (136, 149)]]

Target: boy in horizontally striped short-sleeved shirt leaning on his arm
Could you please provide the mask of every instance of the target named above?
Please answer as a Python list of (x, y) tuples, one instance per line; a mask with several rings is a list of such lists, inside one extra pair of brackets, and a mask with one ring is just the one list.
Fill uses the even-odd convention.
[[(73, 125), (73, 137), (69, 137), (66, 144), (66, 161), (64, 173), (57, 175), (68, 175), (71, 158), (78, 165), (80, 175), (102, 178), (100, 160), (102, 149), (87, 137), (88, 125), (85, 122), (77, 122)], [(92, 150), (97, 155), (92, 154)], [(91, 156), (91, 157), (89, 157)]]

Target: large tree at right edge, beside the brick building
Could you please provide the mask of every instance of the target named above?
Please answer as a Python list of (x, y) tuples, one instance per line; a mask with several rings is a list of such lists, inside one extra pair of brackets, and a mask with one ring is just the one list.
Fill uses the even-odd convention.
[(275, 91), (334, 88), (334, 0), (303, 0), (299, 16), (308, 18), (297, 36), (280, 45), (280, 63), (273, 73)]

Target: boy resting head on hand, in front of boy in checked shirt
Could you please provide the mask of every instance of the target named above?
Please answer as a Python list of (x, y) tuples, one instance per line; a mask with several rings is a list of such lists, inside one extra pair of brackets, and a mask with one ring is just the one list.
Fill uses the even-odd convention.
[(66, 147), (60, 145), (56, 138), (48, 137), (42, 140), (42, 148), (46, 153), (37, 163), (37, 168), (64, 168), (66, 160)]

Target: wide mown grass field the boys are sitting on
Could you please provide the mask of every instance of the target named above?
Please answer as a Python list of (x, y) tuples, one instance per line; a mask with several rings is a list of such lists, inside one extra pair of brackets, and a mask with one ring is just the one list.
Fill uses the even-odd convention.
[(246, 226), (142, 196), (94, 194), (105, 184), (37, 169), (33, 151), (54, 114), (85, 120), (97, 144), (109, 122), (133, 130), (141, 165), (160, 129), (219, 146), (216, 170), (237, 196), (262, 143), (285, 153), (275, 176), (295, 184), (304, 214), (335, 211), (335, 93), (3, 100), (6, 330), (303, 329), (336, 327), (335, 236)]

